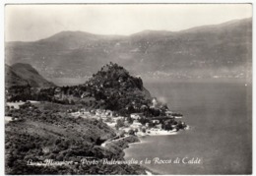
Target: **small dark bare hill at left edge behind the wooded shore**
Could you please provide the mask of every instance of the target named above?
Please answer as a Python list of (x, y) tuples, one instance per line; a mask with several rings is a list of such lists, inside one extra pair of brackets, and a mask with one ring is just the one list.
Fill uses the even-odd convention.
[(32, 88), (48, 88), (55, 85), (45, 80), (30, 64), (16, 63), (5, 65), (6, 87), (30, 86)]

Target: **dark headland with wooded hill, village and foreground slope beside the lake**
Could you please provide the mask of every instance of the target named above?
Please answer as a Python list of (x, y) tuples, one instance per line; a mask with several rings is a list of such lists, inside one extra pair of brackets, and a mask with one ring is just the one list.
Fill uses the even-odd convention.
[[(103, 161), (124, 161), (123, 149), (139, 142), (137, 136), (169, 135), (187, 127), (177, 120), (180, 113), (170, 111), (141, 78), (117, 64), (103, 66), (88, 82), (73, 87), (15, 81), (6, 84), (7, 174), (146, 174), (138, 164)], [(96, 164), (85, 164), (85, 158)], [(42, 167), (47, 159), (71, 162)]]

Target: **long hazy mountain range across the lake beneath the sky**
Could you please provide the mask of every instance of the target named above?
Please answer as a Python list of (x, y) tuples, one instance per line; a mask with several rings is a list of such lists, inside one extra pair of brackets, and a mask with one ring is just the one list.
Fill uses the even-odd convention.
[(147, 79), (251, 78), (252, 19), (131, 35), (61, 31), (5, 43), (6, 63), (30, 63), (46, 79), (89, 78), (110, 61)]

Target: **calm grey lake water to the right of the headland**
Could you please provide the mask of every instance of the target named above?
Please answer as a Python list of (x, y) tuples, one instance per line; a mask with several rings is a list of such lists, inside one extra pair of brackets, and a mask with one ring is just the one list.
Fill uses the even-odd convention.
[(252, 88), (244, 82), (145, 84), (152, 95), (181, 112), (191, 128), (178, 135), (144, 137), (125, 149), (138, 160), (199, 158), (200, 164), (146, 164), (160, 174), (252, 172)]

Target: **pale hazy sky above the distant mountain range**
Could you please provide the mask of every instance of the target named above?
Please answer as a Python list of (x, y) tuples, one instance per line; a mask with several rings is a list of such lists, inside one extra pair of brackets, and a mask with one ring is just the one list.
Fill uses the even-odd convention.
[(62, 30), (97, 34), (176, 31), (251, 16), (250, 4), (7, 5), (5, 40), (37, 40)]

